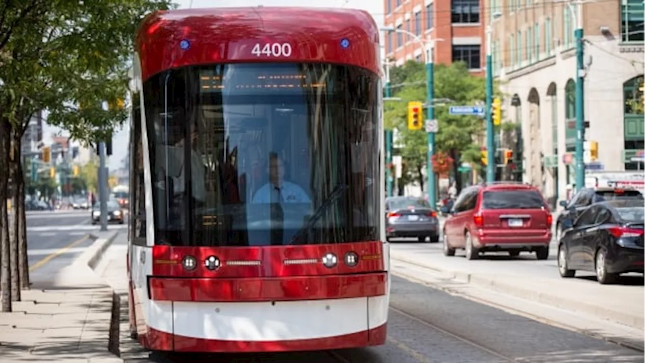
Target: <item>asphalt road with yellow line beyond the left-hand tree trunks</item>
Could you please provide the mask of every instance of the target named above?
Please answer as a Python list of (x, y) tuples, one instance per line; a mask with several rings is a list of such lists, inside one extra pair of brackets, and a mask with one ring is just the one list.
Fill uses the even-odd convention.
[[(90, 211), (29, 211), (26, 213), (27, 249), (32, 283), (52, 280), (62, 267), (72, 264), (99, 231), (92, 225)], [(124, 229), (110, 225), (110, 229)]]

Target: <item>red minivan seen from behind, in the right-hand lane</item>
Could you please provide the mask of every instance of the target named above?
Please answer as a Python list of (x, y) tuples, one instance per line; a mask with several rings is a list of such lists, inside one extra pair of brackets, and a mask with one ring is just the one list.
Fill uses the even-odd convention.
[(475, 260), (481, 253), (535, 252), (538, 260), (549, 256), (553, 216), (542, 193), (532, 185), (497, 182), (464, 189), (443, 227), (443, 251), (454, 256), (466, 250)]

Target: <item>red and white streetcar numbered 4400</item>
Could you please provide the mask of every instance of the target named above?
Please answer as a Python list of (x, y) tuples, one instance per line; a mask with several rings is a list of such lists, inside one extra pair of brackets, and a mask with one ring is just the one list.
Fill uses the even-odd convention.
[(372, 17), (156, 12), (139, 28), (133, 72), (133, 337), (159, 351), (384, 344), (390, 260)]

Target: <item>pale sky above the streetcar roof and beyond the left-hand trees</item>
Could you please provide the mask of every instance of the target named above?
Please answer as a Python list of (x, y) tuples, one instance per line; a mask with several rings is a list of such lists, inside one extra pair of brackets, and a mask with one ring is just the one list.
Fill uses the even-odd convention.
[[(381, 26), (383, 24), (383, 2), (382, 0), (175, 0), (179, 4), (179, 8), (210, 8), (217, 7), (231, 7), (231, 6), (313, 6), (313, 7), (344, 7), (367, 10), (372, 14), (376, 23)], [(324, 21), (324, 19), (321, 19)], [(130, 127), (125, 125), (123, 129), (118, 130), (112, 139), (112, 156), (108, 160), (108, 168), (110, 170), (119, 169), (122, 166), (122, 160), (128, 152), (128, 139)], [(43, 136), (45, 142), (50, 139), (52, 134), (61, 133), (66, 134), (57, 127), (49, 125), (45, 126)]]

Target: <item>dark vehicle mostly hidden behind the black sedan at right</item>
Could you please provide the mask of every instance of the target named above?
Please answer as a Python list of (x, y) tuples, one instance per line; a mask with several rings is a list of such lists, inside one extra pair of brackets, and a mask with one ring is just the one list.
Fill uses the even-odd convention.
[(564, 209), (555, 222), (555, 239), (560, 240), (562, 231), (571, 228), (573, 221), (588, 209), (590, 205), (593, 205), (593, 203), (634, 198), (637, 200), (645, 200), (645, 196), (635, 189), (610, 187), (583, 188), (569, 202), (566, 202), (566, 200), (560, 201), (560, 205)]

